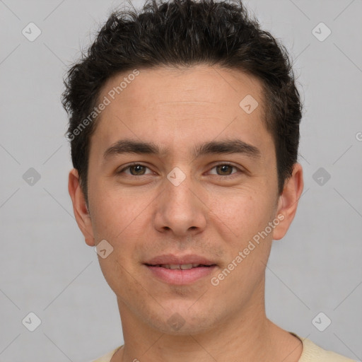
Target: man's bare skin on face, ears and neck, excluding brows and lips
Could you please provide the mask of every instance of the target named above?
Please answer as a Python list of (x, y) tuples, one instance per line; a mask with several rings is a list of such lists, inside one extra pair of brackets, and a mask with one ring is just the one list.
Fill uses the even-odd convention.
[[(264, 275), (272, 240), (284, 237), (296, 214), (303, 170), (294, 165), (279, 195), (261, 83), (216, 66), (139, 70), (105, 107), (91, 136), (89, 212), (77, 171), (69, 173), (87, 245), (105, 239), (113, 247), (105, 259), (98, 256), (117, 296), (124, 335), (112, 362), (298, 361), (301, 341), (265, 315)], [(127, 74), (110, 78), (99, 99)], [(259, 103), (250, 114), (239, 106), (246, 95)], [(105, 150), (126, 138), (167, 146), (169, 153), (120, 154), (104, 163)], [(261, 157), (192, 156), (195, 144), (235, 138), (259, 148)], [(146, 167), (117, 174), (132, 162)], [(225, 163), (236, 168), (216, 168)], [(178, 186), (166, 177), (175, 167), (185, 174)], [(218, 286), (209, 277), (172, 286), (143, 265), (164, 253), (197, 254), (216, 262), (217, 276), (281, 214), (284, 220)], [(178, 330), (168, 323), (175, 313), (185, 320)]]

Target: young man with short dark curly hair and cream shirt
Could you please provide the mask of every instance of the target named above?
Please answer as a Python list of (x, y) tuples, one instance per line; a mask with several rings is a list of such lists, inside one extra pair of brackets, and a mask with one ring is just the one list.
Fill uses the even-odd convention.
[(351, 361), (265, 314), (271, 242), (303, 192), (302, 105), (242, 4), (112, 13), (65, 84), (69, 194), (124, 334), (97, 361)]

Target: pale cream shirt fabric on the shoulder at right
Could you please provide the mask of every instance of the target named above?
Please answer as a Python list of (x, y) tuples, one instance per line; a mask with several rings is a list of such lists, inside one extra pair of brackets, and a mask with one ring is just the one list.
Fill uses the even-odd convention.
[(326, 351), (322, 347), (314, 344), (307, 338), (298, 337), (303, 342), (303, 352), (298, 362), (354, 362), (351, 358), (336, 354), (332, 351)]

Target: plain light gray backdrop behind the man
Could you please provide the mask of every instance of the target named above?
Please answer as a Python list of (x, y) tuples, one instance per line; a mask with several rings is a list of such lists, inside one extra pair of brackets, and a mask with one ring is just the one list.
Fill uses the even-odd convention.
[[(0, 361), (91, 361), (123, 343), (115, 295), (74, 219), (59, 98), (67, 66), (119, 4), (0, 0)], [(267, 315), (361, 360), (362, 1), (245, 4), (290, 50), (305, 104), (305, 189), (286, 237), (274, 242)], [(33, 42), (22, 34), (30, 22), (42, 31)], [(320, 22), (332, 30), (324, 41), (313, 33)], [(29, 168), (40, 174), (33, 185), (23, 179)], [(42, 321), (34, 332), (22, 323), (30, 312)], [(324, 332), (312, 322), (320, 312), (332, 320)], [(319, 327), (326, 320), (317, 318)]]

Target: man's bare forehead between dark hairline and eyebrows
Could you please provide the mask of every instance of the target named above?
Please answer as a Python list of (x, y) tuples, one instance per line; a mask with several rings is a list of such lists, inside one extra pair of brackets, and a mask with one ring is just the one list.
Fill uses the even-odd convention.
[(197, 141), (236, 136), (258, 148), (272, 146), (257, 78), (204, 65), (139, 69), (139, 75), (132, 74), (113, 76), (100, 92), (98, 99), (107, 98), (109, 104), (98, 116), (91, 138), (97, 153), (125, 138), (177, 148), (187, 139), (194, 146)]

